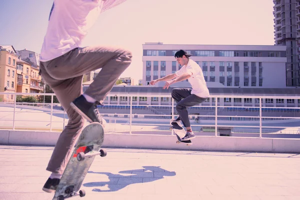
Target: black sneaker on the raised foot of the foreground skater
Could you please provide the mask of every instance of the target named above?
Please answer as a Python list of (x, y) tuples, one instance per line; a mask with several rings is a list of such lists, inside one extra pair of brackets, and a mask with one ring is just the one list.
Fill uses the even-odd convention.
[(85, 97), (81, 94), (70, 103), (81, 116), (86, 118), (89, 122), (99, 122), (102, 124), (102, 117), (97, 109), (99, 102), (88, 102)]

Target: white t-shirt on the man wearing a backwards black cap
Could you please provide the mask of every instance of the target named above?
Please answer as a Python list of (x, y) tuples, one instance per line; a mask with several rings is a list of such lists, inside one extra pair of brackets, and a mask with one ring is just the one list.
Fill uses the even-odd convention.
[(191, 93), (202, 98), (209, 97), (209, 91), (204, 79), (204, 75), (201, 67), (192, 59), (186, 65), (183, 65), (178, 71), (175, 72), (177, 76), (184, 73), (188, 73), (191, 76), (188, 78), (188, 82), (191, 84)]

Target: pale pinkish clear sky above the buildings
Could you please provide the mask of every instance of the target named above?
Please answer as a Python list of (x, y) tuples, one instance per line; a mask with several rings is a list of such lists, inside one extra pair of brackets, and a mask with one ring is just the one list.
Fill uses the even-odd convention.
[[(0, 45), (40, 52), (53, 0), (0, 0)], [(100, 14), (82, 46), (132, 52), (121, 77), (142, 78), (142, 44), (273, 45), (272, 0), (126, 0)]]

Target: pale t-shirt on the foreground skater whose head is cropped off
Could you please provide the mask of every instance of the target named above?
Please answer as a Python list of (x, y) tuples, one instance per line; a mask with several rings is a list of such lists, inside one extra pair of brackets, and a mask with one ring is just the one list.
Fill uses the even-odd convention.
[[(48, 61), (80, 47), (98, 15), (125, 0), (54, 0), (40, 50), (40, 61)], [(105, 29), (105, 28), (104, 28)]]

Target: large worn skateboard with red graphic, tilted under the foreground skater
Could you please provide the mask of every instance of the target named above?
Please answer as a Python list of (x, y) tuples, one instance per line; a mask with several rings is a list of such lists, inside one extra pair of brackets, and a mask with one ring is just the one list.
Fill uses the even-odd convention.
[[(79, 189), (95, 155), (101, 157), (106, 155), (106, 150), (100, 149), (103, 139), (103, 126), (98, 122), (92, 122), (82, 130), (57, 185), (53, 200), (63, 200), (78, 195), (85, 196), (85, 191)], [(77, 193), (78, 190), (79, 193)]]

